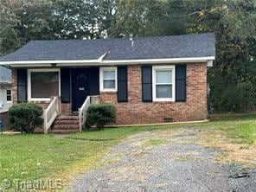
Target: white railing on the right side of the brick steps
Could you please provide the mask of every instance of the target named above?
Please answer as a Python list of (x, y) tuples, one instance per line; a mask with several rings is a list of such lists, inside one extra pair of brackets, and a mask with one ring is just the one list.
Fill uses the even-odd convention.
[(82, 131), (86, 123), (86, 112), (90, 105), (99, 103), (99, 95), (87, 96), (83, 105), (79, 108), (79, 129)]

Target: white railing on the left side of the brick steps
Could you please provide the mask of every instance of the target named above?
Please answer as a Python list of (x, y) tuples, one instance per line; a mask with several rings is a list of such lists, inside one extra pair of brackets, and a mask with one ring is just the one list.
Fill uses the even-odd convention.
[(52, 97), (48, 107), (43, 111), (44, 133), (48, 133), (48, 129), (54, 123), (55, 118), (61, 114), (61, 97)]

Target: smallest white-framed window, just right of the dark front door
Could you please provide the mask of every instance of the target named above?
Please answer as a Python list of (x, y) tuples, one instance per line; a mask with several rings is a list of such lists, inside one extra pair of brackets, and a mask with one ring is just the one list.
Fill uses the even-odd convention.
[(100, 91), (117, 91), (117, 67), (101, 67), (99, 73)]

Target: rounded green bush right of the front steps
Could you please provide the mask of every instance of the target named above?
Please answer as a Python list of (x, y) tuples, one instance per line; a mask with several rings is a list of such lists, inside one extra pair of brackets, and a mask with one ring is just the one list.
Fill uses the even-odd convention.
[(96, 125), (103, 128), (107, 124), (116, 121), (116, 107), (109, 104), (96, 104), (89, 106), (86, 112), (86, 125), (89, 127)]

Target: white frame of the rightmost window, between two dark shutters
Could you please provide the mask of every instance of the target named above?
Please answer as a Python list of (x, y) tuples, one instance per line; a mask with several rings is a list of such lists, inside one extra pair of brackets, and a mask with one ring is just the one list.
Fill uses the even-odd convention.
[[(170, 85), (172, 85), (172, 97), (171, 98), (157, 98), (157, 70), (159, 71), (169, 71), (171, 70), (172, 72), (172, 82), (170, 83)], [(169, 65), (169, 66), (153, 66), (152, 67), (152, 91), (153, 91), (153, 101), (175, 101), (175, 90), (176, 90), (176, 77), (175, 77), (175, 66), (174, 65)], [(165, 85), (165, 84), (163, 84)], [(166, 84), (168, 85), (168, 84)]]

